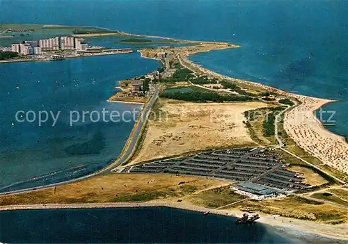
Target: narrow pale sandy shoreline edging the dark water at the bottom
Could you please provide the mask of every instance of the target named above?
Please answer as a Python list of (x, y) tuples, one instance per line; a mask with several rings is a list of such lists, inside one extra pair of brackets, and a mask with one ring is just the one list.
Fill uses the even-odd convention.
[[(242, 216), (243, 212), (236, 209), (216, 210), (207, 209), (202, 206), (193, 206), (189, 204), (178, 204), (175, 202), (118, 202), (118, 203), (102, 203), (102, 204), (34, 204), (34, 205), (13, 205), (0, 206), (0, 211), (15, 211), (29, 209), (109, 209), (109, 208), (143, 208), (143, 207), (168, 207), (173, 209), (184, 209), (188, 211), (198, 211), (200, 213), (212, 213), (217, 215), (226, 215), (231, 217)], [(283, 218), (274, 215), (260, 214), (260, 220), (267, 225), (271, 225), (280, 231), (295, 232), (294, 236), (301, 238), (308, 234), (313, 236), (325, 236), (327, 238), (347, 241), (348, 224), (327, 225), (319, 222), (310, 222), (306, 220), (294, 220), (291, 218)]]

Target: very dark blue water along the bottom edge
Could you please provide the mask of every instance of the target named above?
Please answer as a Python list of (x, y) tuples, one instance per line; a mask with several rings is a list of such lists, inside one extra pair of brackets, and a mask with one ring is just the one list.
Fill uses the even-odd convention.
[[(51, 221), (54, 220), (54, 221)], [(295, 243), (260, 223), (168, 208), (0, 211), (3, 243)]]

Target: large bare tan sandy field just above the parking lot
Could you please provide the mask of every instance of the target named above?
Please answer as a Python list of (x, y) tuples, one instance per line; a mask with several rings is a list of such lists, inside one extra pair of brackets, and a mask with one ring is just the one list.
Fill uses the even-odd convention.
[(150, 120), (143, 146), (133, 165), (153, 158), (234, 145), (255, 145), (243, 121), (244, 111), (267, 107), (262, 102), (175, 103), (164, 102), (161, 118)]

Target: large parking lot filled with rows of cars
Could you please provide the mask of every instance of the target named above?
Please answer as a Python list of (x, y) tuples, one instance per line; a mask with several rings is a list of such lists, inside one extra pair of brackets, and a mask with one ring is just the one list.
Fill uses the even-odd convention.
[(191, 174), (233, 181), (250, 181), (280, 190), (301, 190), (308, 185), (278, 154), (262, 147), (223, 149), (194, 156), (155, 161), (125, 168), (122, 172)]

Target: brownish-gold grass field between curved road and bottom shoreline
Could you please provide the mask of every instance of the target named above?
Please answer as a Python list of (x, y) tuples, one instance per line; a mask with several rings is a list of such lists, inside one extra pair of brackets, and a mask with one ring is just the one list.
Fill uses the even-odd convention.
[(228, 184), (205, 177), (168, 174), (106, 174), (73, 184), (0, 197), (0, 205), (137, 202), (181, 197)]

